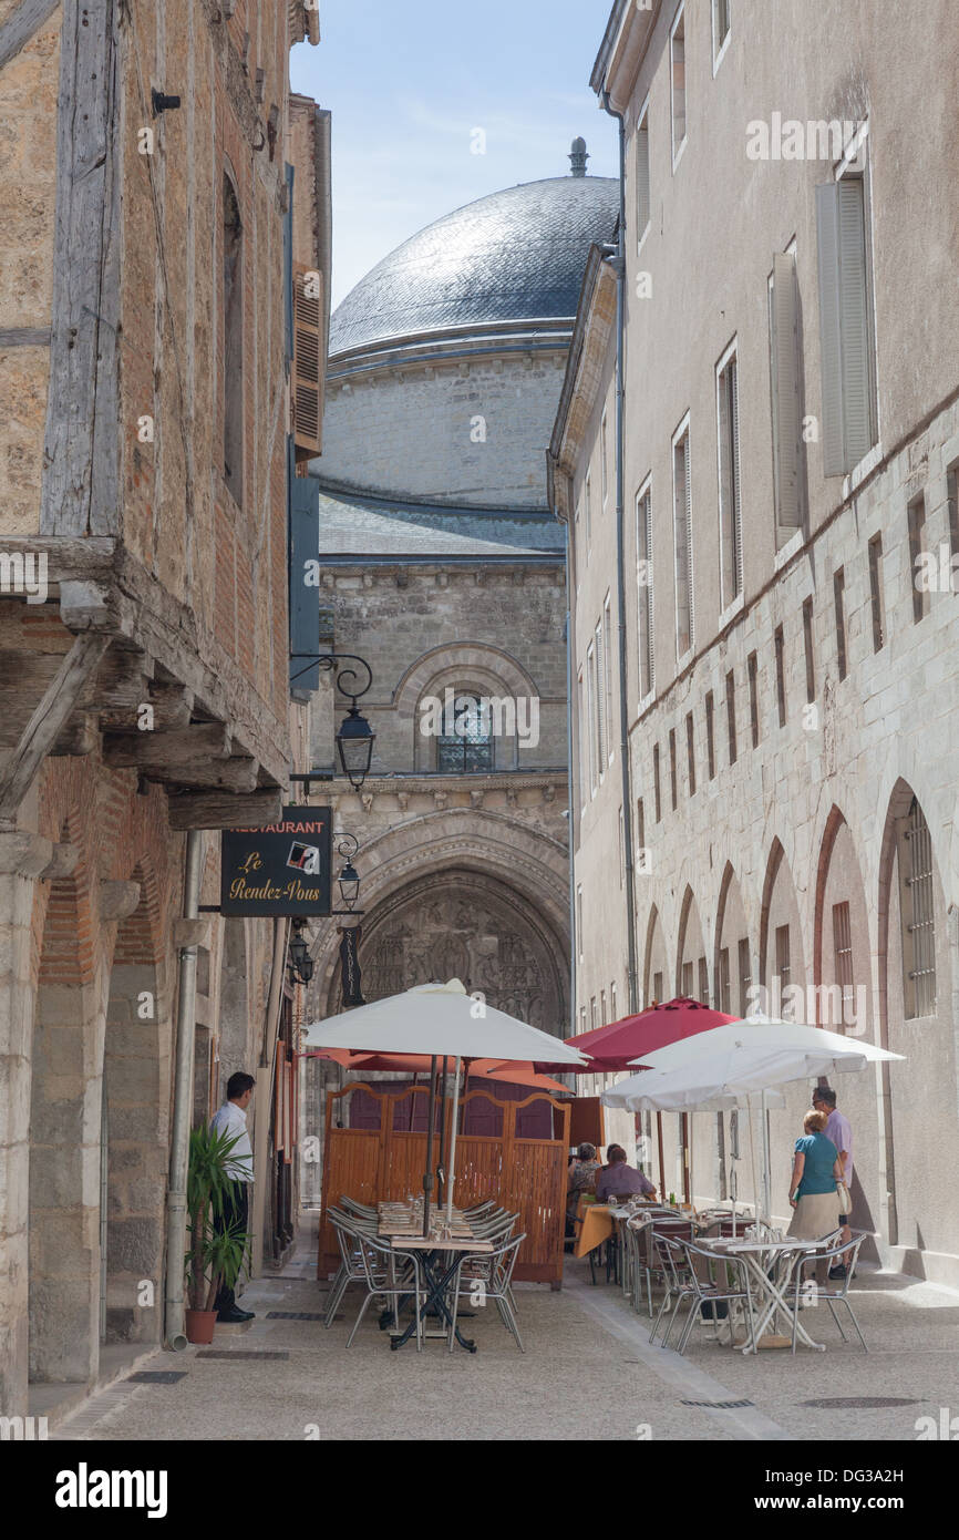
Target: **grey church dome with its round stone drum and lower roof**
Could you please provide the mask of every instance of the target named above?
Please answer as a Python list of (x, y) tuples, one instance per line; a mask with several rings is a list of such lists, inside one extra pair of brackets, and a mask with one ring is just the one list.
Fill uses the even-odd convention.
[(546, 447), (590, 246), (619, 182), (505, 188), (411, 236), (331, 320), (320, 545), (328, 556), (553, 551)]

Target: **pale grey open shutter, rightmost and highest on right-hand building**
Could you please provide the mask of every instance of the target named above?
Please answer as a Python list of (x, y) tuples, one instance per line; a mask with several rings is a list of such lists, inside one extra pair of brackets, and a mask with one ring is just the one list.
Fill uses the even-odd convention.
[(816, 188), (816, 239), (824, 473), (844, 476), (873, 447), (865, 200), (857, 177)]

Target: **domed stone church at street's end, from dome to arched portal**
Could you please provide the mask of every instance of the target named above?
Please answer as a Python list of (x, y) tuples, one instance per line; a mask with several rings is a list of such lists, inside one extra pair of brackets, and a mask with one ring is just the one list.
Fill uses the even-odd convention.
[[(332, 316), (312, 465), (322, 610), (373, 671), (369, 778), (332, 784), (336, 827), (360, 841), (363, 995), (459, 975), (559, 1036), (566, 578), (542, 451), (616, 199), (600, 177), (511, 188), (374, 268)], [(334, 922), (316, 935), (319, 1016), (340, 1009), (339, 941)]]

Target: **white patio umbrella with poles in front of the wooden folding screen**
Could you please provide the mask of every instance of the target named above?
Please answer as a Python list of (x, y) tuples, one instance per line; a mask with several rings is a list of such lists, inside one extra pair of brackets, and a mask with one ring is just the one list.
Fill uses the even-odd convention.
[(343, 1010), (306, 1027), (308, 1049), (354, 1049), (368, 1053), (429, 1053), (429, 1112), (426, 1124), (428, 1181), (423, 1181), (423, 1235), (429, 1229), (429, 1186), (433, 1181), (433, 1124), (436, 1120), (436, 1061), (456, 1060), (453, 1132), (449, 1140), (449, 1177), (446, 1181), (446, 1217), (453, 1212), (453, 1181), (456, 1175), (456, 1116), (459, 1103), (460, 1063), (465, 1058), (546, 1060), (570, 1066), (585, 1064), (579, 1049), (570, 1047), (548, 1032), (531, 1027), (517, 1016), (488, 1006), (482, 996), (468, 995), (459, 978), (446, 984), (417, 984), (402, 995), (374, 999), (369, 1006)]

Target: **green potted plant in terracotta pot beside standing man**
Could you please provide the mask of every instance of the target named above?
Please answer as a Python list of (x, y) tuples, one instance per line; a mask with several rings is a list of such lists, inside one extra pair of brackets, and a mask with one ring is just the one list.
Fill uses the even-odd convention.
[(222, 1284), (232, 1289), (249, 1246), (243, 1221), (232, 1212), (232, 1184), (226, 1170), (237, 1135), (200, 1124), (189, 1133), (186, 1210), (189, 1250), (185, 1261), (188, 1306), (186, 1340), (211, 1343)]

